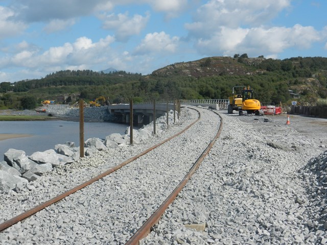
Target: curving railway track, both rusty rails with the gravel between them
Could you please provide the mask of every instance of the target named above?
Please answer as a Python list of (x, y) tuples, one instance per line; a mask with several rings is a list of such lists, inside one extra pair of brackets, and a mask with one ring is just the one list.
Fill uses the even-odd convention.
[[(0, 241), (137, 244), (218, 137), (220, 117), (213, 111), (197, 110), (204, 116), (176, 137), (7, 220), (0, 225)], [(208, 125), (212, 130), (206, 130)], [(15, 224), (19, 219), (24, 220)]]

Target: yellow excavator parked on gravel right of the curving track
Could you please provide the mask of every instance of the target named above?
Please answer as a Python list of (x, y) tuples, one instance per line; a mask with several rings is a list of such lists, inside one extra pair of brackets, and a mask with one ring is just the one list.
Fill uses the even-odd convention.
[(245, 111), (247, 114), (262, 114), (260, 111), (260, 101), (253, 99), (253, 90), (250, 88), (250, 86), (234, 86), (232, 89), (232, 95), (228, 99), (228, 114), (232, 114), (233, 110), (239, 111), (239, 115), (243, 115)]

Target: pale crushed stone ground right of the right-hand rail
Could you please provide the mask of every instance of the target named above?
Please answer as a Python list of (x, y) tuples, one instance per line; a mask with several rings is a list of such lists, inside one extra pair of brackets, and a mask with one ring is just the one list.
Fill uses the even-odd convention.
[(222, 116), (221, 140), (141, 244), (327, 244), (327, 151), (285, 122)]

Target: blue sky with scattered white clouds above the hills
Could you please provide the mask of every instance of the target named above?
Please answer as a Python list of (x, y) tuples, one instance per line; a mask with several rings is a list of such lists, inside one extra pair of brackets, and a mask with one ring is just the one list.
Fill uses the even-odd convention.
[(327, 56), (325, 0), (0, 0), (0, 82), (247, 54)]

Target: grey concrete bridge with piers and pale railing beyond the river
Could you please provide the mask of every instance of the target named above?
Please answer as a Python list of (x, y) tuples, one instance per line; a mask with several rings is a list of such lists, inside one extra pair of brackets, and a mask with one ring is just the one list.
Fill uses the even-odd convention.
[[(214, 100), (180, 100), (181, 106), (192, 105), (192, 106), (203, 106), (211, 107), (213, 109), (227, 109), (228, 100), (214, 99)], [(174, 102), (156, 102), (155, 111), (156, 117), (165, 115), (168, 110), (174, 110)], [(118, 104), (109, 105), (107, 111), (115, 119), (115, 122), (123, 122), (129, 124), (130, 119), (130, 105), (129, 104)], [(146, 125), (153, 121), (153, 103), (140, 103), (133, 105), (133, 122), (135, 125)]]

